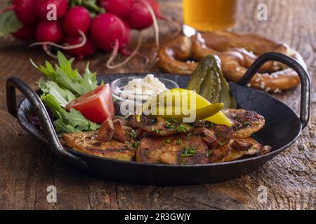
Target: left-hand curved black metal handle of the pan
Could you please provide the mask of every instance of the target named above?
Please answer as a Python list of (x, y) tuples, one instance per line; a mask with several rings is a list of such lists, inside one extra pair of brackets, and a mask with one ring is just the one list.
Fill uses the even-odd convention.
[(67, 152), (65, 148), (62, 147), (43, 102), (41, 102), (37, 93), (19, 78), (11, 77), (6, 81), (6, 104), (8, 112), (16, 118), (17, 106), (15, 88), (20, 90), (29, 102), (31, 102), (35, 112), (37, 113), (39, 121), (41, 122), (44, 135), (53, 154), (81, 169), (88, 169), (88, 165), (84, 162), (84, 160)]

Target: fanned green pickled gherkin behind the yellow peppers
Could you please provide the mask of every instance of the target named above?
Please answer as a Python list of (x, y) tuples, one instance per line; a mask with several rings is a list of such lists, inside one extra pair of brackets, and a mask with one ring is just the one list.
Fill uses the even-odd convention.
[(195, 90), (212, 104), (222, 102), (225, 109), (231, 106), (230, 86), (223, 76), (220, 59), (216, 55), (208, 55), (199, 62), (187, 89)]

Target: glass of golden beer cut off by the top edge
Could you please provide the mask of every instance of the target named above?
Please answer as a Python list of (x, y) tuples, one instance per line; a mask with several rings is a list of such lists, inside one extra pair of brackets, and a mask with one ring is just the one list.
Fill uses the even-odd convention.
[(237, 0), (183, 0), (184, 23), (198, 31), (233, 27), (236, 10)]

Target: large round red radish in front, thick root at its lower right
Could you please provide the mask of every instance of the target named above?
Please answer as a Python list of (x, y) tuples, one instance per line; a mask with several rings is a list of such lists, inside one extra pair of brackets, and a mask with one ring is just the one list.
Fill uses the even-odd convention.
[(124, 48), (124, 35), (126, 28), (124, 23), (112, 13), (100, 14), (91, 22), (91, 37), (99, 48), (106, 52), (112, 52), (114, 43), (119, 49)]

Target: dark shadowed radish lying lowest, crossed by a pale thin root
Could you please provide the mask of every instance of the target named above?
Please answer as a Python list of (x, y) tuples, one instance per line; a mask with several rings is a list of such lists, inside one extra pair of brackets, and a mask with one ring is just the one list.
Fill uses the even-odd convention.
[[(81, 36), (65, 36), (64, 43), (68, 45), (78, 45), (83, 42), (83, 38)], [(87, 38), (86, 43), (80, 48), (74, 48), (70, 50), (66, 50), (68, 55), (73, 55), (78, 57), (79, 59), (83, 59), (84, 56), (92, 55), (96, 52), (96, 45)]]

